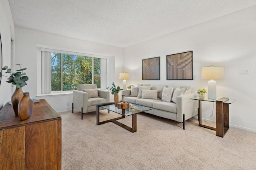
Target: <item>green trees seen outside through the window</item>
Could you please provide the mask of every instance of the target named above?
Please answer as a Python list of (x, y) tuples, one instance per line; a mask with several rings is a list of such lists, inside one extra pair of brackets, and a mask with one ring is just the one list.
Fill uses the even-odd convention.
[(100, 58), (81, 55), (62, 54), (62, 77), (61, 77), (61, 54), (52, 53), (52, 91), (76, 90), (79, 84), (92, 84), (92, 69), (94, 71), (94, 84), (100, 88)]

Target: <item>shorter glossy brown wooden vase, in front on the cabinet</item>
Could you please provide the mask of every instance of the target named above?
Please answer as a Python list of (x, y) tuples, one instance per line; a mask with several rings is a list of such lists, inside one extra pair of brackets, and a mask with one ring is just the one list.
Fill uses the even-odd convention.
[(23, 97), (18, 104), (18, 114), (22, 121), (29, 119), (33, 113), (34, 103), (29, 93), (23, 93)]

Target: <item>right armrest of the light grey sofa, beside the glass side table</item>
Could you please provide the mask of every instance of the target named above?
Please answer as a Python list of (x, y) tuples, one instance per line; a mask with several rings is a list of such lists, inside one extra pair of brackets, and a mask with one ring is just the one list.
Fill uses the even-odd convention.
[(185, 115), (185, 120), (190, 119), (198, 114), (196, 101), (190, 98), (196, 97), (195, 93), (190, 93), (186, 95), (181, 95), (177, 97), (177, 121), (183, 122), (183, 114)]

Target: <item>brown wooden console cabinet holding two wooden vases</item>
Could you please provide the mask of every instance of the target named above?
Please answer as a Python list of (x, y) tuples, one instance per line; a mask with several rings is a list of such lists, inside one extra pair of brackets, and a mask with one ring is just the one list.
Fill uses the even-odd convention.
[(0, 110), (0, 146), (0, 170), (60, 170), (61, 117), (41, 99), (30, 119), (21, 121), (6, 103)]

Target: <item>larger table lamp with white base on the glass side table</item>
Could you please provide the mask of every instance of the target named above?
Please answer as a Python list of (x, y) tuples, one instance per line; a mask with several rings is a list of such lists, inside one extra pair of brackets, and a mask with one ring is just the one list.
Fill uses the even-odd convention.
[(201, 79), (211, 79), (208, 81), (208, 99), (216, 99), (216, 81), (213, 79), (224, 79), (224, 67), (202, 67)]

